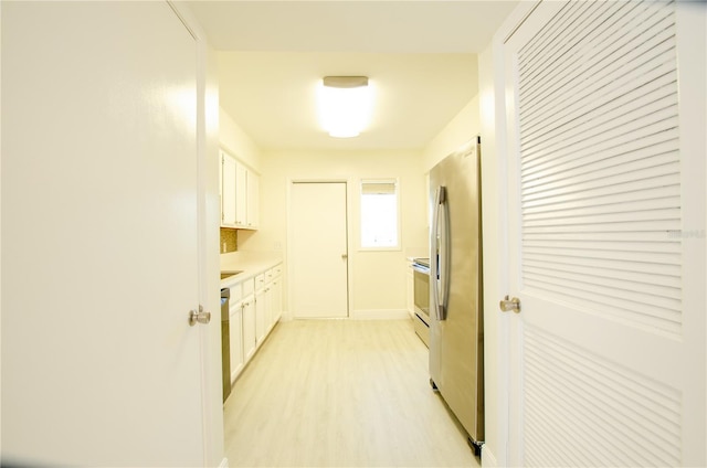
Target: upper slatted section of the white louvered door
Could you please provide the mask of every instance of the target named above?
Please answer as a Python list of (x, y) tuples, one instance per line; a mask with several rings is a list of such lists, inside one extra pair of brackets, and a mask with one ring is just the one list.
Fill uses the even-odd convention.
[[(679, 265), (679, 251), (644, 243), (642, 249), (622, 252), (592, 240), (597, 233), (651, 231), (667, 237), (680, 226), (672, 8), (568, 4), (551, 30), (519, 52), (518, 93), (525, 257), (624, 262), (627, 275), (606, 281), (600, 275), (527, 266), (525, 284), (564, 291), (570, 298), (613, 297), (623, 304), (620, 309), (631, 310), (623, 317), (635, 320), (650, 305), (642, 325), (655, 320), (661, 330), (677, 331), (679, 290), (643, 284), (641, 278), (665, 265)], [(627, 191), (640, 191), (644, 198), (613, 198)], [(613, 202), (598, 203), (599, 198)], [(570, 200), (574, 206), (557, 208)], [(531, 204), (529, 210), (526, 204)], [(550, 233), (581, 234), (583, 241), (579, 236), (571, 248), (537, 243)]]

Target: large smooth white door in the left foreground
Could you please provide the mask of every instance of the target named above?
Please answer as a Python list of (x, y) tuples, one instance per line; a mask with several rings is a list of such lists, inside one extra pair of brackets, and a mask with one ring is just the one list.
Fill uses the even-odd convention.
[(166, 2), (2, 4), (3, 465), (204, 464), (196, 62)]

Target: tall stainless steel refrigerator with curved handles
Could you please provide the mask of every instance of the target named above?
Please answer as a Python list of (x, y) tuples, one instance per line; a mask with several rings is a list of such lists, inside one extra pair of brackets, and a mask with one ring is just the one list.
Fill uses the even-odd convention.
[(430, 383), (484, 440), (481, 138), (430, 171)]

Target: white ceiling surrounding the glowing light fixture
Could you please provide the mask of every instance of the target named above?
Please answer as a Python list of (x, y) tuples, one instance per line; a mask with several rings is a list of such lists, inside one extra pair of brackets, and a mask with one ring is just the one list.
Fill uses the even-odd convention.
[[(219, 51), (223, 109), (263, 149), (420, 149), (477, 93), (476, 53), (517, 1), (190, 1)], [(366, 75), (373, 121), (335, 139), (326, 75)]]

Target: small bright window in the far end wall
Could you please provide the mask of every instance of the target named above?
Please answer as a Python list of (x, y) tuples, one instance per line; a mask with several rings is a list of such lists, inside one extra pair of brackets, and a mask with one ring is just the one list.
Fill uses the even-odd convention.
[(361, 248), (400, 247), (398, 181), (361, 181)]

